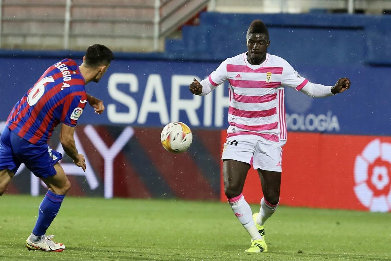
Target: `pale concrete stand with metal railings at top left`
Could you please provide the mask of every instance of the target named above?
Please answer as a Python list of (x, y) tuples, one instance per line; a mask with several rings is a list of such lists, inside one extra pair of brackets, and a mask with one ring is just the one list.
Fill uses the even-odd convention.
[(163, 50), (163, 38), (208, 0), (0, 0), (0, 47), (84, 49), (99, 40), (114, 50)]

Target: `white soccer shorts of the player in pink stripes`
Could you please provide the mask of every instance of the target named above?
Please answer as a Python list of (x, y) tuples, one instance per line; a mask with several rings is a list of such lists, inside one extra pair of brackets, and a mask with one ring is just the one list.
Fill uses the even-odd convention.
[(223, 160), (237, 160), (253, 165), (254, 169), (281, 172), (284, 141), (227, 139), (222, 150)]

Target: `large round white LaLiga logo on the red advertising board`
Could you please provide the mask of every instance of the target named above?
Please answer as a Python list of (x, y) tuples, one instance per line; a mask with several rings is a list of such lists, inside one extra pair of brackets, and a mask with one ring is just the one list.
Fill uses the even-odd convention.
[(354, 192), (370, 211), (391, 211), (391, 143), (372, 140), (357, 155)]

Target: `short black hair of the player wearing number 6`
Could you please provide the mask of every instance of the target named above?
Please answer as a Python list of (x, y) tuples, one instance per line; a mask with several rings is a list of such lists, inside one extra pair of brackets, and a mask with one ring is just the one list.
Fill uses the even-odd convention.
[(90, 45), (86, 51), (86, 65), (89, 67), (109, 65), (113, 58), (113, 52), (106, 46), (98, 43)]

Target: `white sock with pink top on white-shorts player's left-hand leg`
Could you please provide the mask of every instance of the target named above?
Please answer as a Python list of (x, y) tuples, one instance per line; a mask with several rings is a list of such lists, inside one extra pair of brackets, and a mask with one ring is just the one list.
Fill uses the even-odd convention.
[(243, 227), (247, 230), (253, 240), (262, 239), (262, 236), (258, 233), (256, 229), (253, 213), (251, 212), (250, 205), (244, 200), (243, 194), (235, 198), (228, 198), (228, 203), (230, 203), (232, 211), (235, 213), (235, 216), (238, 218)]

